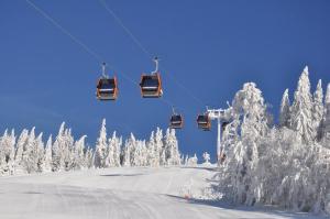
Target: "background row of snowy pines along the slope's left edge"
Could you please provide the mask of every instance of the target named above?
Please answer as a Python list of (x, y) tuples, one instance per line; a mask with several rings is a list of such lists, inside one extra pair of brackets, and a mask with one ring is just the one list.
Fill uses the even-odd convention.
[(103, 119), (95, 149), (85, 143), (86, 135), (74, 140), (72, 130), (62, 123), (53, 142), (52, 135), (43, 142), (43, 133), (35, 135), (34, 128), (23, 130), (19, 136), (7, 131), (0, 136), (0, 176), (114, 166), (179, 165), (180, 154), (175, 130), (165, 135), (157, 128), (148, 141), (136, 140), (133, 134), (122, 141), (113, 132), (107, 135)]

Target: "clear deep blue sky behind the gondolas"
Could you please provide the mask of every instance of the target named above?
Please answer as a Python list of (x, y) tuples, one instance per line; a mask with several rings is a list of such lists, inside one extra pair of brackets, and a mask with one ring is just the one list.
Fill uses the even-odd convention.
[[(24, 0), (0, 1), (0, 130), (36, 127), (57, 133), (62, 121), (94, 144), (101, 119), (109, 132), (148, 138), (165, 129), (172, 109), (142, 99), (135, 81), (154, 65), (99, 1), (34, 0), (61, 25), (117, 69), (117, 102), (95, 98), (100, 63)], [(245, 81), (255, 81), (277, 116), (285, 88), (290, 97), (305, 65), (312, 89), (330, 81), (330, 1), (120, 1), (109, 7), (141, 43), (161, 58), (164, 98), (185, 116), (180, 150), (216, 152), (217, 131), (201, 132), (205, 105), (226, 107)], [(168, 70), (168, 72), (167, 72)], [(172, 74), (191, 95), (168, 77)], [(215, 127), (215, 125), (213, 125)]]

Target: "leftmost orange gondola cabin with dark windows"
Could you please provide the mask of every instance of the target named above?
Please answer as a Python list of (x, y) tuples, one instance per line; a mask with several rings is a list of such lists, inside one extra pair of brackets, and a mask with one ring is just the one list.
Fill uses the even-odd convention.
[(117, 96), (117, 78), (100, 78), (97, 85), (98, 100), (116, 100)]

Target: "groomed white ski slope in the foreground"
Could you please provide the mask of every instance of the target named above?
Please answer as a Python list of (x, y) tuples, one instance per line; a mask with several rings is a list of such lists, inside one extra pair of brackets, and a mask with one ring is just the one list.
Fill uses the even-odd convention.
[(198, 196), (215, 171), (205, 167), (121, 167), (0, 178), (1, 219), (317, 218), (221, 202)]

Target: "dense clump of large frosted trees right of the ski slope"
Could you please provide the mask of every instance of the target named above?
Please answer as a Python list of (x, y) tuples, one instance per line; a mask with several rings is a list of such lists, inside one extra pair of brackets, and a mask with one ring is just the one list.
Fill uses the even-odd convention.
[(306, 67), (292, 103), (284, 91), (278, 124), (255, 84), (237, 92), (222, 136), (228, 158), (217, 175), (224, 199), (330, 212), (330, 84), (324, 101), (321, 80), (310, 90)]

